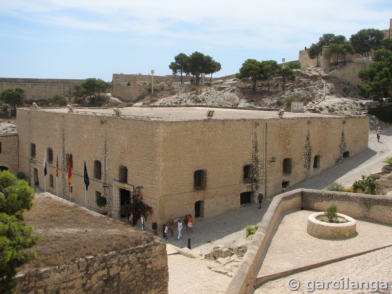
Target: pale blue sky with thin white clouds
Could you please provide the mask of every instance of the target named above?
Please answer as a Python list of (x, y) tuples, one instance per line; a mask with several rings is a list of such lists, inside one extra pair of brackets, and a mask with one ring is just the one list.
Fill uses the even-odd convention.
[(172, 74), (179, 53), (238, 73), (246, 59), (298, 59), (325, 33), (388, 29), (391, 0), (0, 0), (0, 77), (112, 81)]

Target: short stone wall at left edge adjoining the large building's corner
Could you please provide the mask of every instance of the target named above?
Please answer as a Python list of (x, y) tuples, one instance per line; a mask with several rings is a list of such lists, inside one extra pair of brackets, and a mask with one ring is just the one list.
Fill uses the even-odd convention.
[(0, 166), (16, 174), (19, 171), (18, 135), (0, 135)]

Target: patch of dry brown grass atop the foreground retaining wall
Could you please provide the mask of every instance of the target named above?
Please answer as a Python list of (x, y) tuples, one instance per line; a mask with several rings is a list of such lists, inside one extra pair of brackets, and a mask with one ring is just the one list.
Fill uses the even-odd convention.
[(87, 211), (56, 196), (36, 196), (25, 224), (41, 235), (31, 248), (38, 258), (21, 270), (69, 263), (77, 258), (149, 243), (154, 236)]

